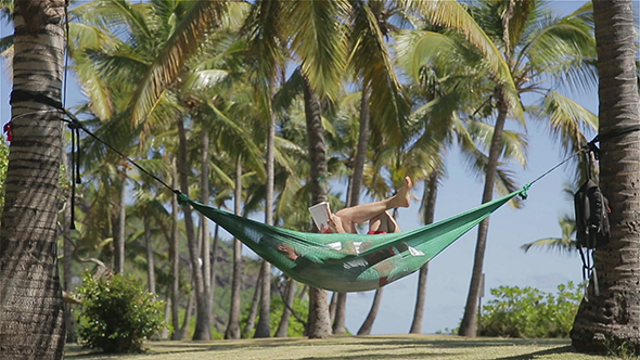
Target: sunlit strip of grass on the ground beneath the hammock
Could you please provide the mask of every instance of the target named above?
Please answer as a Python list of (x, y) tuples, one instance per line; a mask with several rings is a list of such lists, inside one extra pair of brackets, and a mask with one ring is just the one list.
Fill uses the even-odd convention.
[(613, 360), (577, 353), (568, 339), (465, 338), (446, 335), (336, 336), (325, 339), (267, 338), (213, 342), (150, 342), (142, 355), (106, 356), (66, 348), (67, 359), (450, 359), (450, 360)]

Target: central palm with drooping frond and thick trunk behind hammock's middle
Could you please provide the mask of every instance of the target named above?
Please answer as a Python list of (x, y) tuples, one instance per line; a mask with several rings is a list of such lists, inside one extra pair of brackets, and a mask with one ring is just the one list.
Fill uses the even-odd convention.
[[(346, 18), (348, 2), (289, 1), (283, 14), (289, 22), (291, 48), (300, 59), (304, 78), (310, 159), (311, 203), (327, 201), (327, 146), (321, 121), (321, 98), (337, 94), (346, 65), (346, 26), (336, 20)], [(327, 292), (312, 287), (309, 296), (307, 335), (322, 338), (331, 334)]]

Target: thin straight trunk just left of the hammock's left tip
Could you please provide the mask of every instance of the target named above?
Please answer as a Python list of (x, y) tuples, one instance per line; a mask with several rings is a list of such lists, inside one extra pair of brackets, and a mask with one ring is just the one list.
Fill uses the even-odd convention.
[[(178, 188), (178, 169), (176, 159), (171, 162), (171, 187)], [(180, 332), (180, 228), (178, 227), (178, 198), (171, 197), (171, 239), (169, 241), (169, 259), (171, 260), (171, 325), (174, 326), (172, 340), (182, 339)]]

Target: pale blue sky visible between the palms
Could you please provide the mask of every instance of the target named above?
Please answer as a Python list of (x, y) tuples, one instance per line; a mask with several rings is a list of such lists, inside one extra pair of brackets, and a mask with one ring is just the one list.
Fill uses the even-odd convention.
[[(565, 14), (583, 3), (584, 1), (553, 1), (552, 5)], [(7, 25), (0, 27), (2, 37), (12, 31), (13, 29)], [(72, 98), (78, 99), (79, 91), (73, 81), (68, 86), (71, 98), (67, 106), (73, 106)], [(11, 85), (3, 67), (0, 75), (1, 125), (10, 119), (10, 92)], [(592, 93), (573, 99), (597, 113), (596, 89)], [(560, 149), (548, 140), (545, 129), (540, 126), (530, 123), (527, 138), (527, 168), (511, 167), (521, 184), (532, 181), (562, 160)], [(448, 178), (443, 181), (438, 193), (436, 220), (459, 214), (481, 203), (483, 181), (468, 173), (463, 160), (456, 152), (448, 158), (447, 168)], [(520, 248), (522, 244), (535, 240), (560, 236), (559, 216), (563, 211), (573, 211), (573, 204), (562, 192), (564, 182), (569, 178), (571, 170), (561, 167), (532, 187), (523, 208), (516, 210), (504, 206), (491, 216), (484, 262), (487, 296), (483, 304), (490, 298), (489, 288), (501, 285), (532, 286), (543, 292), (555, 292), (559, 284), (581, 281), (581, 262), (578, 256), (545, 250), (530, 250), (525, 254)], [(417, 189), (415, 194), (421, 193), (422, 190)], [(419, 204), (414, 202), (408, 209), (400, 209), (398, 222), (401, 229), (409, 230), (420, 226), (418, 208)], [(462, 318), (476, 235), (477, 230), (472, 230), (431, 261), (424, 333), (456, 327)], [(409, 331), (415, 305), (417, 283), (418, 275), (412, 274), (385, 286), (373, 334), (402, 334)], [(374, 292), (349, 294), (346, 324), (351, 333), (358, 331), (369, 312), (373, 294)]]

